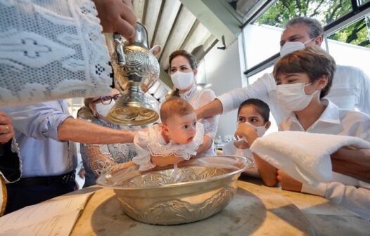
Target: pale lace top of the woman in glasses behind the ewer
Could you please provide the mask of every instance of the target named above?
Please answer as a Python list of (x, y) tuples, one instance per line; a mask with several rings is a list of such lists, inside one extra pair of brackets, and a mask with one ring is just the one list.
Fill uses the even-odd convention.
[[(108, 124), (100, 119), (94, 119), (91, 122), (101, 126), (106, 126), (111, 129), (134, 130), (141, 128), (136, 128), (136, 126), (119, 126), (115, 124)], [(91, 169), (95, 176), (100, 176), (103, 173), (110, 173), (115, 169), (120, 169), (123, 163), (131, 161), (136, 155), (135, 147), (132, 143), (115, 143), (105, 145), (81, 144), (80, 147), (82, 160), (87, 163), (87, 166), (89, 166), (89, 169)]]

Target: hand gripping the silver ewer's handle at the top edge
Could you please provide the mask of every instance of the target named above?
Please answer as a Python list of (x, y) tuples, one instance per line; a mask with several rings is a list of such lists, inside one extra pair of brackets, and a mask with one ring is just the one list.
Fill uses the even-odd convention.
[(122, 34), (126, 39), (135, 36), (136, 15), (131, 0), (93, 0), (103, 32)]

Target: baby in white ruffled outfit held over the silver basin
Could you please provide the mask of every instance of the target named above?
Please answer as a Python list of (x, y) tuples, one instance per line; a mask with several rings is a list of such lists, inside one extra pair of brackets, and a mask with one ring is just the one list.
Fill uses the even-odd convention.
[(162, 124), (149, 126), (134, 138), (136, 156), (132, 161), (139, 171), (170, 164), (166, 158), (188, 160), (203, 143), (203, 124), (196, 122), (196, 112), (185, 100), (167, 99), (160, 107), (160, 119)]

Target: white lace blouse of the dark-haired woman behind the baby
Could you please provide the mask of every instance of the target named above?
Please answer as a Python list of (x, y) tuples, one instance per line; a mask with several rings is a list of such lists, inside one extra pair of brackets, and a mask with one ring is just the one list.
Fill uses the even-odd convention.
[[(195, 110), (197, 110), (200, 107), (203, 107), (203, 105), (212, 102), (212, 100), (215, 100), (216, 98), (214, 91), (210, 89), (198, 90), (195, 84), (193, 84), (189, 91), (186, 91), (185, 93), (179, 93), (179, 96), (181, 99), (184, 99), (188, 103), (190, 103), (190, 105), (193, 106)], [(218, 121), (219, 121), (218, 115), (215, 117), (200, 119), (198, 121), (202, 123), (204, 126), (204, 134), (212, 138), (212, 145), (210, 149), (207, 150), (206, 152), (203, 152), (202, 155), (216, 155), (213, 140), (215, 140)]]

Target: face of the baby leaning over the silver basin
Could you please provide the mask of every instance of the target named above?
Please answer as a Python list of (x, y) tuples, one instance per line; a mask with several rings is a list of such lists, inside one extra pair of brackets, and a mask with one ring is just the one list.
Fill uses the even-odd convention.
[(179, 144), (190, 143), (196, 136), (196, 113), (174, 115), (166, 125), (171, 140)]

